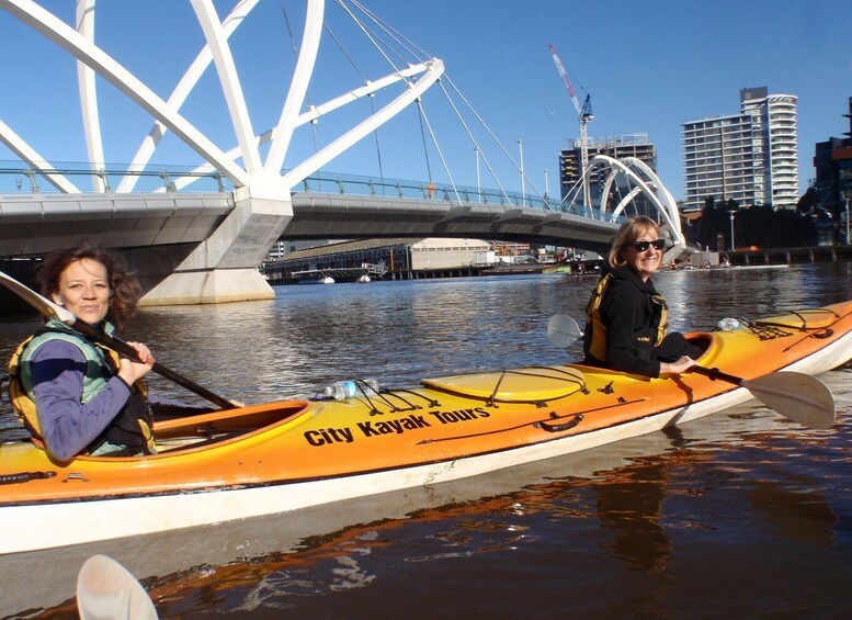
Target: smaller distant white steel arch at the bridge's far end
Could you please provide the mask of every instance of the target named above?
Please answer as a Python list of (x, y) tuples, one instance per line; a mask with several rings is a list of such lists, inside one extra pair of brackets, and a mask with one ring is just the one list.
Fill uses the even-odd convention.
[[(673, 240), (681, 247), (686, 247), (686, 239), (681, 228), (678, 203), (647, 164), (636, 157), (615, 159), (607, 155), (595, 155), (589, 161), (589, 168), (583, 176), (583, 182), (589, 182), (594, 174), (603, 174), (605, 177), (600, 193), (599, 212), (601, 217), (607, 211), (613, 217), (618, 217), (634, 199), (641, 194), (663, 217), (671, 230)], [(617, 204), (607, 210), (607, 198), (613, 185), (618, 181), (620, 176), (623, 176), (628, 181), (632, 189)]]

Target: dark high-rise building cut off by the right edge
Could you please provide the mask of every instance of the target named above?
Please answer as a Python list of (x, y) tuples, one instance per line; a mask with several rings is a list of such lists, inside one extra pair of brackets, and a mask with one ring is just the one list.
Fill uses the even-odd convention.
[[(814, 156), (817, 206), (831, 213), (834, 222), (843, 223), (842, 235), (838, 230), (838, 240), (845, 237), (847, 201), (852, 201), (852, 97), (849, 98), (849, 113), (843, 116), (849, 119), (849, 131), (843, 134), (847, 137), (817, 143)], [(845, 243), (850, 243), (849, 239)]]

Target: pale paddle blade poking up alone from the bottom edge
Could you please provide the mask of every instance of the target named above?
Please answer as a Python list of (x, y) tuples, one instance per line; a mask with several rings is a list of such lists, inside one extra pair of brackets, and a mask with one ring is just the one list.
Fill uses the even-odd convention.
[(157, 620), (157, 610), (127, 568), (106, 555), (92, 555), (77, 577), (81, 620)]

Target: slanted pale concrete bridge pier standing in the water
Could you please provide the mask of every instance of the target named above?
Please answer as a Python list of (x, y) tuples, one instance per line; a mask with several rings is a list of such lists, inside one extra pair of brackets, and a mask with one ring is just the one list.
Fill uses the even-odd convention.
[(285, 198), (235, 191), (235, 208), (219, 227), (166, 280), (151, 289), (141, 305), (188, 305), (271, 300), (274, 292), (257, 267), (293, 218)]

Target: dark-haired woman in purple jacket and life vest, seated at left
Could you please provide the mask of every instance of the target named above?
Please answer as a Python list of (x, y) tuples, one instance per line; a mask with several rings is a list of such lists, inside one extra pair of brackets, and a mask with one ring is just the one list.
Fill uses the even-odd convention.
[[(107, 332), (136, 311), (139, 284), (102, 248), (58, 250), (42, 263), (42, 293)], [(155, 451), (143, 377), (154, 367), (98, 345), (49, 319), (12, 359), (12, 404), (34, 441), (57, 461), (78, 454), (134, 455)]]

